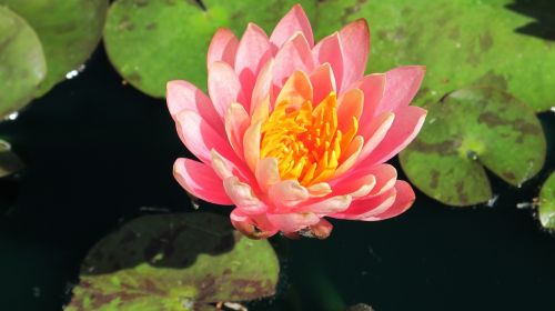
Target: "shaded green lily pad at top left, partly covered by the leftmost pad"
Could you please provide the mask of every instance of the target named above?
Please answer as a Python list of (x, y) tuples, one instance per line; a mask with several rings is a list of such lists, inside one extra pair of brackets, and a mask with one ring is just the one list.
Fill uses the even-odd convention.
[(38, 96), (48, 92), (94, 51), (102, 36), (108, 0), (0, 0), (37, 31), (48, 63)]

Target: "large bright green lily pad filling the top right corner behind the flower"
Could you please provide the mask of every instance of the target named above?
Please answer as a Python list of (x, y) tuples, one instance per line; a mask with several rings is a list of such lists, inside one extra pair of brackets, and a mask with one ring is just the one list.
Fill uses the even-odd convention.
[(371, 72), (402, 64), (427, 67), (420, 106), (476, 84), (505, 90), (536, 111), (548, 110), (555, 107), (553, 1), (517, 2), (326, 0), (319, 6), (315, 29), (322, 37), (366, 18)]

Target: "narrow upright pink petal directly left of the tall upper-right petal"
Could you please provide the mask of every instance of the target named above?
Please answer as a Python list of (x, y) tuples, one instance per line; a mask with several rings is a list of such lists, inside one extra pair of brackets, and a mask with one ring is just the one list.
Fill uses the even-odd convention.
[(341, 46), (340, 34), (337, 32), (325, 37), (312, 49), (312, 54), (316, 63), (330, 63), (333, 73), (335, 74), (337, 92), (341, 91), (341, 81), (344, 71), (344, 53)]

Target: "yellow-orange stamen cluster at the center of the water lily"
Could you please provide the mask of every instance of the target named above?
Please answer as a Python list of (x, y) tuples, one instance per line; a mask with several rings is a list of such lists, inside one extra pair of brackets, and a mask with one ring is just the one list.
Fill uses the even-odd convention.
[(278, 159), (280, 177), (296, 179), (303, 185), (325, 181), (345, 160), (344, 151), (359, 130), (359, 120), (345, 132), (337, 129), (337, 99), (331, 92), (316, 108), (311, 101), (292, 107), (279, 102), (262, 124), (262, 159)]

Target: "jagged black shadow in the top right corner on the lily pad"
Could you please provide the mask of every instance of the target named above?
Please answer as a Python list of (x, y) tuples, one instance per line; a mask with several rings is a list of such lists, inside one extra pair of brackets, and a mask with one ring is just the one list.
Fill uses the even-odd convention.
[(553, 0), (516, 0), (507, 9), (534, 18), (516, 32), (555, 41), (555, 2)]

